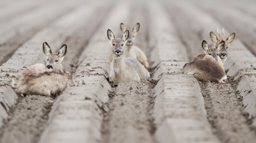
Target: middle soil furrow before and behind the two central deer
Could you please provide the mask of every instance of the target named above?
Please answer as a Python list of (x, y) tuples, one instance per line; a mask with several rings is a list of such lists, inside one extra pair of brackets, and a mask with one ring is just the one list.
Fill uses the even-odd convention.
[[(147, 47), (147, 27), (145, 8), (131, 6), (129, 28), (139, 22), (140, 30), (136, 37), (136, 43), (145, 52), (147, 57), (150, 49)], [(136, 15), (134, 15), (136, 11)], [(139, 11), (139, 12), (138, 12)], [(139, 14), (138, 14), (139, 13)], [(139, 21), (136, 21), (139, 20)], [(135, 44), (136, 45), (136, 44)], [(148, 59), (149, 61), (150, 59)], [(153, 70), (152, 70), (153, 71)], [(151, 80), (152, 83), (154, 82)], [(154, 143), (154, 93), (155, 84), (150, 81), (122, 83), (113, 87), (110, 92), (109, 108), (104, 113), (102, 126), (102, 140), (105, 143)]]

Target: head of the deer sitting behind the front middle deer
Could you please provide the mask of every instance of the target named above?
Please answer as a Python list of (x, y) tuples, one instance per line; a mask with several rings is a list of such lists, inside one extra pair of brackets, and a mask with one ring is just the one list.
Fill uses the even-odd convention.
[[(126, 30), (128, 30), (128, 28), (123, 23), (120, 24), (120, 29), (122, 32), (125, 32)], [(131, 46), (135, 43), (135, 38), (139, 29), (140, 29), (139, 23), (133, 26), (131, 31), (131, 36), (129, 36), (129, 39), (127, 40), (127, 43), (126, 43), (127, 46)]]

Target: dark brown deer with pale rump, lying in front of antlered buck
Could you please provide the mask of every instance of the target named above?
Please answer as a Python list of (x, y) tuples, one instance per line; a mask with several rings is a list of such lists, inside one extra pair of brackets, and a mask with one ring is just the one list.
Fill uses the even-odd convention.
[(205, 51), (203, 59), (198, 59), (186, 63), (183, 67), (185, 74), (193, 75), (197, 80), (206, 82), (224, 83), (227, 79), (223, 66), (218, 62), (218, 53), (224, 48), (224, 41), (221, 41), (216, 48), (210, 48), (205, 40), (202, 42), (202, 48)]

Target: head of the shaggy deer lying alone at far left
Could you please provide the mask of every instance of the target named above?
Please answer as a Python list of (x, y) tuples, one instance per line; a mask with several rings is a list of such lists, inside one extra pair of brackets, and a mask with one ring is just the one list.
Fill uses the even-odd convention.
[(66, 55), (67, 52), (67, 45), (63, 44), (60, 49), (58, 50), (58, 53), (52, 53), (52, 50), (47, 42), (43, 43), (43, 51), (46, 55), (47, 62), (46, 62), (46, 68), (49, 71), (58, 71), (61, 70), (61, 62)]

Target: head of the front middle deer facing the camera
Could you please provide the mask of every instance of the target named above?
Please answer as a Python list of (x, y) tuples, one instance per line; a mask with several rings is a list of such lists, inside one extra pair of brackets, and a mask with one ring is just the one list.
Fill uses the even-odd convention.
[(121, 59), (124, 54), (124, 46), (129, 38), (129, 30), (126, 30), (121, 38), (115, 38), (114, 33), (108, 29), (107, 36), (112, 46), (112, 54), (114, 59)]

